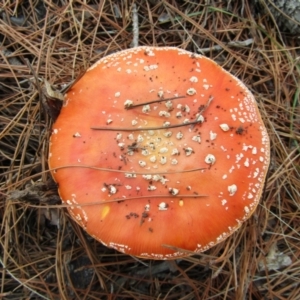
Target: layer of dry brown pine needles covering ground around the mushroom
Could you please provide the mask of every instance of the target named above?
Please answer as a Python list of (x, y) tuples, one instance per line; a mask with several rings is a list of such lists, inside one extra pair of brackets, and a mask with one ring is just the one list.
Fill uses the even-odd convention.
[[(99, 58), (129, 48), (134, 3), (139, 45), (204, 52), (253, 92), (271, 137), (271, 167), (255, 215), (225, 242), (172, 266), (136, 260), (86, 236), (53, 200), (56, 188), (48, 182), (52, 121), (43, 108), (43, 82), (63, 92)], [(261, 3), (268, 5), (1, 2), (1, 298), (299, 298), (299, 39), (281, 32)], [(24, 191), (36, 191), (34, 201)], [(54, 225), (42, 217), (57, 208)], [(274, 245), (289, 264), (268, 267)]]

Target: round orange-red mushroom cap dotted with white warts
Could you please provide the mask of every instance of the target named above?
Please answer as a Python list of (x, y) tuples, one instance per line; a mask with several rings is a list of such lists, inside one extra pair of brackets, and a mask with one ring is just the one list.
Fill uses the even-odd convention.
[(240, 80), (201, 55), (138, 47), (100, 59), (65, 95), (49, 166), (91, 236), (172, 259), (209, 249), (251, 216), (269, 152)]

